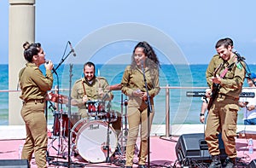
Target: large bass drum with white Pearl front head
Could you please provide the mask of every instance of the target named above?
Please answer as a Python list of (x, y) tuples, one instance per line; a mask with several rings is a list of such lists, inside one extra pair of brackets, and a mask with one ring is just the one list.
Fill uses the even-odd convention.
[[(109, 125), (109, 155), (107, 148), (108, 124), (93, 120), (81, 119), (73, 126), (71, 138), (74, 138), (74, 151), (91, 163), (105, 162), (117, 148), (118, 138), (115, 130)], [(75, 136), (74, 136), (75, 135)]]

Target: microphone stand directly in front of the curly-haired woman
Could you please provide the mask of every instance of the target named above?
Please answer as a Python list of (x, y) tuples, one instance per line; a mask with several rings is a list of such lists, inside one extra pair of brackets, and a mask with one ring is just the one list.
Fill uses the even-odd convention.
[(146, 79), (146, 75), (145, 75), (145, 70), (143, 67), (143, 62), (142, 62), (142, 70), (143, 70), (143, 78), (144, 78), (144, 84), (145, 84), (145, 88), (146, 88), (146, 92), (147, 92), (147, 101), (146, 103), (148, 104), (148, 168), (150, 167), (150, 113), (152, 113), (152, 106), (151, 106), (151, 102), (150, 102), (150, 96), (148, 95), (148, 84), (147, 84), (147, 79)]

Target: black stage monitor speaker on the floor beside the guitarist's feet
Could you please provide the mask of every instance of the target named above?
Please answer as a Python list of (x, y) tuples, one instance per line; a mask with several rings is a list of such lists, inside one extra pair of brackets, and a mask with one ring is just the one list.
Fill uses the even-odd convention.
[[(224, 150), (224, 142), (221, 139), (221, 134), (218, 137), (220, 159), (227, 158)], [(203, 133), (183, 134), (179, 137), (176, 147), (177, 159), (180, 162), (190, 164), (190, 161), (210, 162), (212, 160), (209, 154), (207, 142)]]

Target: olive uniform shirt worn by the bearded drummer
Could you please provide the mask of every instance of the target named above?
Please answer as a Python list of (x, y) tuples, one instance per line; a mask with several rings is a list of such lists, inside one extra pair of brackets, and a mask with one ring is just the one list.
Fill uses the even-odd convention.
[[(89, 101), (102, 101), (112, 100), (113, 93), (108, 90), (108, 81), (103, 77), (93, 78), (91, 83), (89, 83), (85, 78), (80, 78), (73, 84), (73, 89), (71, 92), (71, 97), (73, 101), (77, 102), (79, 107), (79, 114), (81, 118), (89, 118), (87, 104), (83, 102), (83, 96), (86, 95)], [(99, 90), (102, 90), (104, 94), (101, 95)], [(103, 100), (104, 101), (104, 100)], [(105, 109), (107, 111), (107, 109)], [(121, 116), (118, 113), (118, 119), (112, 123), (113, 129), (116, 130), (117, 136), (121, 130)]]

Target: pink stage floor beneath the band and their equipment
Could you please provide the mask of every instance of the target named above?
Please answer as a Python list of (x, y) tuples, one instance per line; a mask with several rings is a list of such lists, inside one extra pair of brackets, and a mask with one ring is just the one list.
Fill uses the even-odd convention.
[[(150, 167), (182, 167), (177, 162), (176, 145), (178, 136), (150, 136)], [(0, 158), (1, 159), (19, 159), (19, 147), (25, 142), (24, 139), (20, 140), (0, 140)], [(254, 144), (256, 141), (253, 140)], [(196, 143), (196, 142), (195, 142)], [(74, 143), (73, 143), (74, 144)], [(72, 145), (71, 145), (72, 146)], [(78, 145), (79, 146), (79, 145)], [(83, 144), (82, 144), (83, 146)], [(86, 146), (86, 145), (85, 145)], [(93, 146), (93, 145), (92, 145)], [(117, 145), (119, 151), (122, 152), (120, 145)], [(94, 150), (82, 148), (79, 146), (80, 154), (74, 156), (72, 152), (70, 159), (68, 158), (68, 141), (67, 138), (49, 138), (49, 157), (48, 167), (123, 167), (125, 164), (125, 154), (113, 153), (110, 154), (110, 163), (106, 163), (105, 158), (102, 162), (89, 163), (88, 160), (94, 160), (96, 157), (100, 158), (97, 153), (102, 152), (101, 148), (95, 148)], [(137, 144), (139, 148), (139, 144)], [(247, 139), (236, 138), (237, 159), (239, 161), (239, 167), (247, 167), (247, 165), (256, 158), (256, 148), (254, 145), (254, 153), (248, 154)], [(71, 150), (73, 151), (73, 150)], [(106, 152), (106, 150), (105, 150)], [(104, 153), (107, 156), (106, 153)], [(94, 157), (95, 156), (95, 157)], [(137, 156), (134, 158), (133, 167), (137, 167)], [(146, 164), (148, 165), (148, 163)], [(35, 159), (32, 159), (31, 167), (37, 167), (35, 165)], [(183, 166), (186, 167), (186, 166)], [(188, 166), (187, 166), (188, 167)], [(193, 166), (196, 167), (196, 166)], [(206, 165), (207, 167), (207, 165)]]

